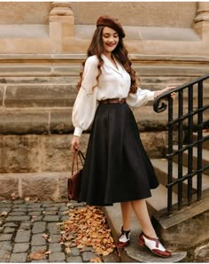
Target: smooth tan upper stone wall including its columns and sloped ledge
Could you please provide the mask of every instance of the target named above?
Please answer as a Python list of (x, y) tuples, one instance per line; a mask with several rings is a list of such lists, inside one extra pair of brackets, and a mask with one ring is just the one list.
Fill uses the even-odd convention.
[(130, 53), (209, 55), (205, 2), (0, 3), (0, 10), (4, 54), (86, 53), (98, 15), (117, 13)]

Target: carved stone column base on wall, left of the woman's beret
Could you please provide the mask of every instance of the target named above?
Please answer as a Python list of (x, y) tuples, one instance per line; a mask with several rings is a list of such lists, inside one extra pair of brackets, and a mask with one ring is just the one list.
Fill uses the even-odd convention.
[(62, 43), (63, 47), (63, 43), (72, 36), (74, 36), (74, 12), (71, 9), (71, 4), (53, 2), (50, 11), (50, 38)]

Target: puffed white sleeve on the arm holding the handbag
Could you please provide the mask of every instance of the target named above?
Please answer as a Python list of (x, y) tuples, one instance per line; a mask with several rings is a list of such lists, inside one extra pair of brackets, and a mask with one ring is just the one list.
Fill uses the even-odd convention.
[(72, 121), (74, 125), (74, 136), (81, 136), (82, 131), (91, 125), (97, 109), (97, 65), (96, 56), (86, 60), (81, 88), (74, 102)]

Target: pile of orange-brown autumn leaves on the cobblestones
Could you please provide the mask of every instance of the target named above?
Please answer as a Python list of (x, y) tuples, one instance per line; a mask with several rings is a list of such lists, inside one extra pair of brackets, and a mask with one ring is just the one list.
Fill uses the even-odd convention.
[(97, 206), (70, 209), (69, 220), (61, 223), (60, 229), (61, 244), (66, 246), (68, 253), (73, 246), (77, 246), (80, 251), (91, 246), (98, 256), (109, 255), (115, 250), (111, 229), (106, 224), (104, 213)]

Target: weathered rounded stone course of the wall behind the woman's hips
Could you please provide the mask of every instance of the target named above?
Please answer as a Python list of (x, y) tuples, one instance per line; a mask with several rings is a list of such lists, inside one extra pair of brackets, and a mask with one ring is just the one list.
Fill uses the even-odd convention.
[[(2, 107), (0, 111), (0, 134), (65, 134), (73, 133), (72, 107), (66, 106), (70, 99), (61, 99), (59, 106), (54, 106), (52, 100), (45, 102), (44, 107)], [(24, 104), (24, 103), (22, 103)], [(26, 104), (31, 104), (27, 103)], [(40, 104), (44, 100), (40, 99)], [(47, 106), (48, 105), (48, 106)], [(166, 131), (167, 112), (155, 113), (152, 105), (133, 109), (135, 120), (140, 131)], [(206, 120), (207, 116), (204, 115)], [(186, 121), (184, 122), (187, 125)], [(194, 120), (194, 125), (197, 120)], [(174, 136), (177, 131), (174, 131)]]

